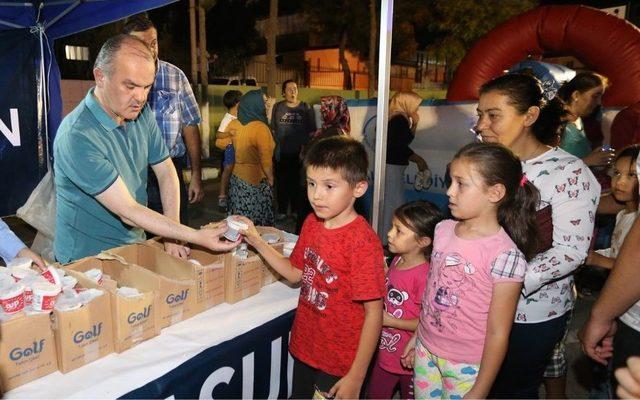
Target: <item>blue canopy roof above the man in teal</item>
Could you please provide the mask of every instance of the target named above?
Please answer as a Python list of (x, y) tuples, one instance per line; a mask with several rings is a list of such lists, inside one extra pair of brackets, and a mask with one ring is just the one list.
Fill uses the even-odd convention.
[(0, 29), (40, 23), (56, 39), (177, 0), (11, 0), (0, 1)]

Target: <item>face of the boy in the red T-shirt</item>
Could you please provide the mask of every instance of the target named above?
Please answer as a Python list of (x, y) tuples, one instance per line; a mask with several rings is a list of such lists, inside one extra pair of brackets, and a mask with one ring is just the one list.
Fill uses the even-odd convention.
[(341, 226), (355, 212), (353, 203), (367, 190), (366, 182), (351, 186), (340, 171), (325, 167), (307, 168), (307, 196), (313, 211), (325, 226)]

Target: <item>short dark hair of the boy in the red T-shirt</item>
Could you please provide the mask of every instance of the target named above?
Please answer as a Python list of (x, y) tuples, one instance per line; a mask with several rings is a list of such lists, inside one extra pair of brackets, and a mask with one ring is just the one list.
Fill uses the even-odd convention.
[(304, 169), (330, 168), (339, 171), (351, 186), (367, 180), (367, 152), (349, 136), (330, 136), (313, 143), (304, 157)]

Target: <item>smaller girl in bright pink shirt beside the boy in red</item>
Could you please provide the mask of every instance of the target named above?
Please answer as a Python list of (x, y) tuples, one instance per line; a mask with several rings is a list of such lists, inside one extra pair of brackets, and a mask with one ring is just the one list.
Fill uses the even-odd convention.
[(413, 399), (413, 370), (400, 363), (400, 355), (418, 327), (420, 301), (429, 272), (433, 231), (442, 213), (426, 201), (398, 207), (387, 233), (389, 251), (395, 254), (387, 268), (382, 334), (367, 397), (390, 399), (400, 386), (403, 399)]

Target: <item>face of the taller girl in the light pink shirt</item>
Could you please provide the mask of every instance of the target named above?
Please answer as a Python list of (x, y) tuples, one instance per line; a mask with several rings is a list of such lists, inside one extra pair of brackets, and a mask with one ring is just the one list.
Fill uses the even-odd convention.
[(495, 208), (489, 188), (473, 164), (464, 158), (451, 163), (451, 186), (447, 190), (451, 215), (460, 220), (476, 218)]

